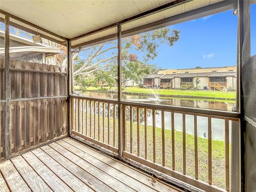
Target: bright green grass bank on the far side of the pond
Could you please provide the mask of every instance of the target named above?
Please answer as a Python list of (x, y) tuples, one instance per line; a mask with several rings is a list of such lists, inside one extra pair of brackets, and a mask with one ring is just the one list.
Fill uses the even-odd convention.
[[(104, 87), (109, 90), (109, 87)], [(79, 86), (75, 86), (75, 90), (79, 91)], [(106, 91), (105, 90), (105, 91)], [(111, 90), (117, 91), (117, 87), (112, 87)], [(101, 91), (100, 87), (88, 87), (87, 91)], [(221, 98), (221, 99), (236, 99), (235, 91), (209, 91), (209, 90), (164, 90), (164, 89), (146, 89), (139, 87), (126, 87), (122, 90), (127, 93), (143, 93), (143, 94), (156, 94), (166, 95), (170, 97), (196, 97), (196, 98)]]

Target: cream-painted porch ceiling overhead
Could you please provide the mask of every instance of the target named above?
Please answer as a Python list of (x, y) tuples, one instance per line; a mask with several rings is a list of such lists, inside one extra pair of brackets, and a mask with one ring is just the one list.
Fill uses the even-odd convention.
[[(66, 38), (74, 38), (139, 13), (170, 3), (173, 0), (151, 1), (0, 1), (0, 8), (17, 17)], [(149, 22), (217, 3), (221, 0), (195, 0), (154, 14)], [(134, 27), (134, 26), (133, 26)], [(130, 27), (128, 27), (130, 28)]]

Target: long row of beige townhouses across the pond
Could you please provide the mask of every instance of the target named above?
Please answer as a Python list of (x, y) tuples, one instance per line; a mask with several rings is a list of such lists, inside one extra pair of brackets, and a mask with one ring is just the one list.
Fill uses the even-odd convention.
[(143, 77), (143, 87), (235, 91), (236, 66), (162, 70)]

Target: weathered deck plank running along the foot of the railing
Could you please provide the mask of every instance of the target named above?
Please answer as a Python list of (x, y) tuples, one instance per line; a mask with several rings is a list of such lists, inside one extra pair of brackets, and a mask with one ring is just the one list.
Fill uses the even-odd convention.
[(81, 143), (78, 143), (70, 138), (62, 139), (63, 141), (73, 145), (74, 147), (83, 150), (85, 153), (90, 154), (91, 156), (97, 158), (99, 161), (104, 162), (108, 164), (109, 166), (113, 167), (116, 170), (119, 170), (123, 172), (124, 174), (129, 175), (133, 179), (143, 183), (144, 185), (147, 185), (149, 187), (154, 188), (157, 191), (177, 191), (175, 189), (170, 188), (169, 186), (165, 185), (162, 182), (157, 182), (154, 186), (151, 183), (151, 178), (146, 174), (139, 170), (133, 169), (130, 166), (127, 166), (126, 164), (111, 158), (109, 156), (103, 155), (98, 153), (97, 151), (86, 147), (82, 145)]

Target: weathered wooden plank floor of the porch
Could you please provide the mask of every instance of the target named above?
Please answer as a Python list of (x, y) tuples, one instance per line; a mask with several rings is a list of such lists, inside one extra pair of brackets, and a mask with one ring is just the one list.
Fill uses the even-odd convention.
[(0, 164), (1, 191), (181, 191), (65, 138)]

